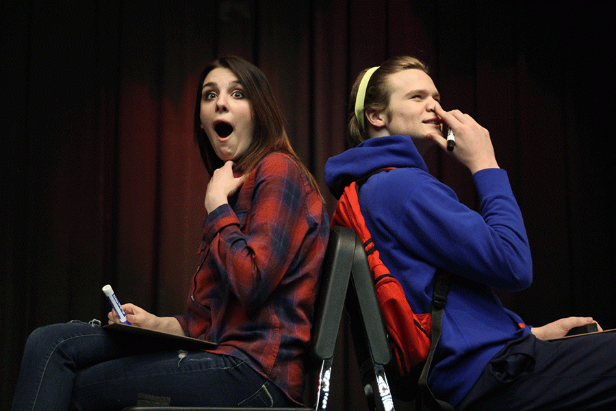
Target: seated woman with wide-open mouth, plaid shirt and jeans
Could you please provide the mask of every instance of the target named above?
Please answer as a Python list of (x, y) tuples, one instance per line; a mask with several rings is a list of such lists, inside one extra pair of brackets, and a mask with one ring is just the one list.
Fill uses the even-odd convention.
[[(14, 411), (122, 409), (140, 395), (172, 406), (300, 402), (329, 236), (322, 196), (290, 146), (266, 77), (241, 58), (203, 71), (194, 133), (211, 179), (188, 310), (123, 309), (132, 325), (218, 347), (178, 354), (133, 347), (85, 323), (41, 327), (25, 347)], [(109, 322), (118, 322), (114, 312)]]

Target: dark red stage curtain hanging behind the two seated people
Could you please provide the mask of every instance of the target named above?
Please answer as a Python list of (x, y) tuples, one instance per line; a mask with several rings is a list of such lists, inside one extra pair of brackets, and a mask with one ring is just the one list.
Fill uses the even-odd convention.
[[(524, 213), (535, 280), (500, 292), (504, 304), (530, 324), (616, 327), (609, 13), (537, 3), (4, 2), (1, 408), (27, 335), (104, 319), (104, 284), (160, 315), (184, 310), (208, 178), (192, 141), (196, 82), (227, 53), (266, 73), (324, 192), (359, 71), (426, 60), (444, 106), (489, 129)], [(478, 207), (465, 169), (437, 150), (427, 160)], [(343, 330), (337, 410), (363, 407), (351, 350)]]

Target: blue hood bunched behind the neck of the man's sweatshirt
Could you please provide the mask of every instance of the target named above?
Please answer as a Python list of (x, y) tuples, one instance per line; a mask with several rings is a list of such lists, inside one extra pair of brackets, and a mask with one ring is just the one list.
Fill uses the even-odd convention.
[(325, 163), (325, 182), (332, 195), (339, 198), (348, 184), (384, 167), (415, 167), (428, 171), (409, 136), (375, 137), (329, 158)]

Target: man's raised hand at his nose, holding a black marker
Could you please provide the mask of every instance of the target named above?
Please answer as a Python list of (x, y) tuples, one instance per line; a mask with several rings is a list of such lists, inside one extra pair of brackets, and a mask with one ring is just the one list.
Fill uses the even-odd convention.
[(483, 169), (498, 169), (492, 140), (487, 129), (460, 110), (446, 112), (439, 103), (435, 104), (435, 113), (452, 130), (456, 137), (456, 147), (453, 151), (447, 151), (447, 136), (428, 134), (426, 137), (453, 155), (473, 174)]

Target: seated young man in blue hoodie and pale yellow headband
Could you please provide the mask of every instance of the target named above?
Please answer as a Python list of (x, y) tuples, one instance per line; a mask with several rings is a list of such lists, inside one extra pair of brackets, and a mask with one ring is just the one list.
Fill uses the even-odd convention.
[[(392, 58), (361, 73), (352, 88), (348, 125), (357, 146), (330, 158), (326, 182), (335, 196), (372, 175), (359, 192), (381, 260), (413, 311), (430, 312), (437, 268), (454, 273), (428, 385), (457, 410), (616, 409), (616, 334), (548, 341), (592, 323), (571, 317), (527, 327), (503, 308), (492, 288), (522, 290), (532, 281), (522, 214), (489, 132), (459, 110), (446, 112), (428, 70), (415, 58)], [(473, 175), (480, 212), (461, 204), (428, 173), (422, 159), (446, 149)]]

